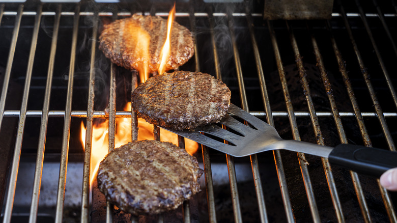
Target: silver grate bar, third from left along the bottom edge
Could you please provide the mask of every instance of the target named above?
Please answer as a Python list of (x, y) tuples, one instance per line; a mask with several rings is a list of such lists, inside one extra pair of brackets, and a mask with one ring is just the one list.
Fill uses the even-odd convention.
[(62, 222), (63, 207), (65, 201), (66, 172), (67, 172), (68, 153), (69, 153), (74, 64), (76, 60), (75, 55), (76, 55), (76, 45), (77, 45), (79, 11), (80, 11), (80, 5), (77, 5), (75, 8), (76, 16), (74, 17), (74, 24), (73, 24), (72, 48), (70, 54), (70, 66), (69, 66), (69, 76), (68, 76), (69, 78), (68, 92), (66, 96), (66, 105), (65, 105), (65, 122), (64, 122), (63, 136), (62, 136), (61, 164), (60, 164), (59, 181), (58, 181), (58, 195), (56, 199), (55, 222)]

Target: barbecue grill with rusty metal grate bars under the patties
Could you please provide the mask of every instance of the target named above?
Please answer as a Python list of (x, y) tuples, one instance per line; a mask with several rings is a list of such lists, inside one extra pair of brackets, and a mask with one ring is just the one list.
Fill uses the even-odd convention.
[[(200, 147), (202, 192), (175, 211), (131, 216), (90, 190), (92, 129), (116, 118), (139, 82), (98, 50), (103, 23), (144, 13), (153, 1), (0, 3), (0, 201), (3, 222), (397, 222), (396, 194), (379, 180), (327, 159), (289, 151), (234, 158)], [(179, 70), (222, 79), (232, 103), (285, 139), (351, 143), (395, 151), (397, 72), (394, 1), (334, 3), (330, 20), (264, 20), (262, 2), (185, 2), (176, 21), (195, 54)], [(86, 148), (79, 142), (87, 126)], [(154, 138), (161, 133), (154, 126)], [(179, 137), (184, 147), (184, 138)]]

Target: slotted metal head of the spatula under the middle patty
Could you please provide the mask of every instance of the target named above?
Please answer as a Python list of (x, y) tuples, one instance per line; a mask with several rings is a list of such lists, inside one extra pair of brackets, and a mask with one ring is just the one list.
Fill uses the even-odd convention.
[[(233, 117), (244, 120), (245, 124)], [(276, 129), (234, 104), (230, 105), (228, 114), (219, 123), (223, 128), (217, 124), (209, 124), (182, 131), (164, 129), (236, 157), (276, 149), (272, 145), (281, 141)]]

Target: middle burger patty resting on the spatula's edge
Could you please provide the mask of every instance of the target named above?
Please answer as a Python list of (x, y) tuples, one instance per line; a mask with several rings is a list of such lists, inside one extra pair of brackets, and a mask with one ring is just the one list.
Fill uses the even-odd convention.
[(149, 78), (132, 94), (133, 110), (151, 124), (178, 130), (219, 122), (231, 92), (219, 79), (201, 72), (176, 71)]

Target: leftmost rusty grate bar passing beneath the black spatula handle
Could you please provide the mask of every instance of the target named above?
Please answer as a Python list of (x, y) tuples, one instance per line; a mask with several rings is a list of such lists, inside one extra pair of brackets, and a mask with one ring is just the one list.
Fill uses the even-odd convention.
[[(329, 21), (328, 21), (329, 22)], [(329, 30), (329, 29), (328, 29)], [(324, 63), (323, 63), (323, 58), (320, 54), (320, 50), (318, 48), (317, 45), (317, 41), (313, 35), (313, 33), (311, 34), (311, 42), (313, 44), (313, 48), (315, 51), (315, 55), (316, 55), (316, 61), (317, 61), (317, 65), (319, 67), (320, 73), (321, 73), (321, 78), (323, 80), (323, 85), (325, 88), (325, 91), (327, 92), (327, 96), (328, 96), (328, 100), (330, 102), (331, 105), (331, 109), (332, 109), (332, 114), (335, 120), (335, 124), (336, 124), (336, 128), (339, 134), (339, 138), (341, 140), (341, 143), (343, 144), (348, 144), (348, 140), (347, 140), (347, 136), (342, 124), (342, 120), (341, 120), (341, 116), (339, 116), (339, 111), (336, 107), (336, 101), (333, 97), (332, 93), (332, 86), (331, 86), (331, 82), (328, 78), (328, 75), (326, 73), (325, 67), (324, 67)], [(332, 34), (330, 34), (331, 39), (333, 39)], [(336, 47), (336, 44), (334, 45), (334, 47)], [(339, 63), (342, 62), (341, 58), (337, 59)], [(339, 66), (339, 67), (343, 67), (343, 63)], [(360, 184), (360, 180), (358, 178), (357, 173), (350, 171), (350, 175), (352, 177), (353, 180), (353, 185), (354, 185), (354, 189), (356, 191), (357, 194), (357, 199), (359, 201), (359, 205), (360, 205), (360, 209), (361, 209), (361, 213), (362, 216), (364, 217), (364, 221), (365, 222), (371, 222), (371, 215), (370, 215), (370, 211), (368, 210), (368, 206), (366, 204), (365, 201), (365, 197), (364, 197), (364, 193), (362, 191), (362, 187)]]

